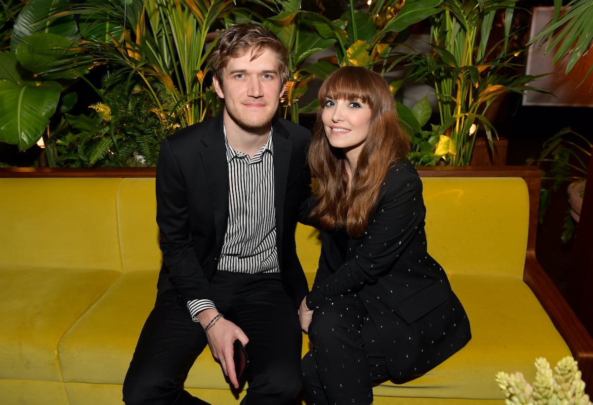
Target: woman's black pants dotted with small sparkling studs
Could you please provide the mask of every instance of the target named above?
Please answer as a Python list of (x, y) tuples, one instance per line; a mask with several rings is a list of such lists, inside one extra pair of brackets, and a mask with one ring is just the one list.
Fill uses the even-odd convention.
[(313, 312), (309, 339), (314, 348), (301, 369), (313, 404), (372, 403), (372, 381), (389, 374), (377, 330), (358, 295), (326, 299)]

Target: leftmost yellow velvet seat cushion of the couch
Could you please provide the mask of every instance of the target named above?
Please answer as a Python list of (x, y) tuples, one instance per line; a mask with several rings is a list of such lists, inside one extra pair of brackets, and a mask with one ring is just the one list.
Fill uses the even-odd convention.
[(58, 345), (120, 275), (113, 270), (0, 272), (0, 378), (62, 381)]

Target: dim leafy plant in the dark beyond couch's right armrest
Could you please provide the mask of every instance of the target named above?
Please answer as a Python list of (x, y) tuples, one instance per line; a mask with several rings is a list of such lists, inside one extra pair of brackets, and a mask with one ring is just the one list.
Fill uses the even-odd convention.
[[(539, 221), (543, 222), (550, 206), (551, 194), (569, 183), (586, 180), (593, 143), (586, 136), (565, 128), (552, 135), (543, 145), (538, 158), (530, 158), (528, 165), (541, 168)], [(560, 240), (567, 243), (576, 229), (576, 222), (566, 211)]]

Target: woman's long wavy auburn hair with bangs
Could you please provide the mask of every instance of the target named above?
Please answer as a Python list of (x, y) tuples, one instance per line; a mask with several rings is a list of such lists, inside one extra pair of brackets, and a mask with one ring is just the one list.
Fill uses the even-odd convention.
[[(352, 237), (364, 234), (377, 202), (381, 184), (394, 162), (410, 151), (410, 141), (399, 125), (393, 95), (381, 75), (359, 66), (344, 66), (323, 82), (318, 93), (320, 109), (308, 152), (317, 178), (317, 204), (311, 216), (326, 229), (345, 229)], [(345, 156), (327, 141), (321, 114), (327, 100), (362, 101), (371, 107), (369, 133), (358, 157), (348, 189)]]

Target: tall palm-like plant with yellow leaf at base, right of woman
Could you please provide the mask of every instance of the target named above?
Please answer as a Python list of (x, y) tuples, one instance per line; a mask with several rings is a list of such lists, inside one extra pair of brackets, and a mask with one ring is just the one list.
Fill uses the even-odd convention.
[[(444, 0), (431, 16), (432, 51), (410, 58), (406, 79), (435, 88), (439, 123), (435, 157), (451, 165), (470, 162), (476, 130), (483, 127), (492, 147), (495, 127), (484, 115), (501, 95), (547, 90), (528, 85), (537, 76), (523, 75), (517, 52), (509, 52), (517, 0)], [(500, 39), (492, 32), (502, 25)]]

